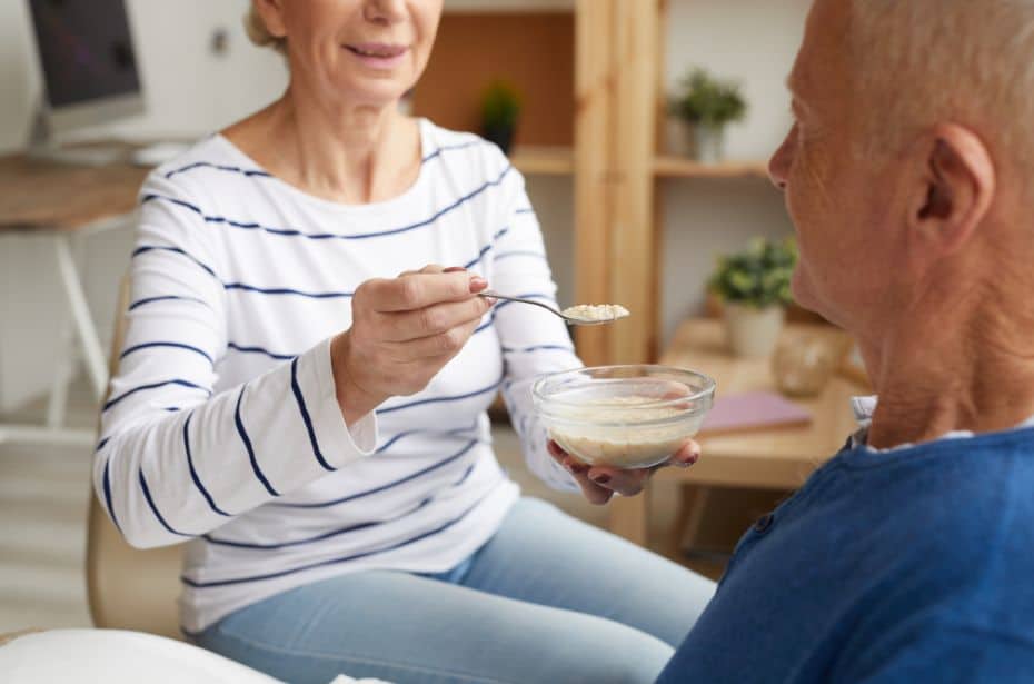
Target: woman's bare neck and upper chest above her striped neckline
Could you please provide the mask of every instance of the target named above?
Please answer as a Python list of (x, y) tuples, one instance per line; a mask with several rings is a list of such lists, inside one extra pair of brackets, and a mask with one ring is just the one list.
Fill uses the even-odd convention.
[(223, 135), (274, 176), (342, 204), (397, 197), (420, 172), (419, 126), (395, 103), (328, 105), (297, 82)]

